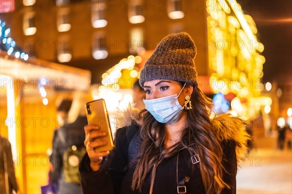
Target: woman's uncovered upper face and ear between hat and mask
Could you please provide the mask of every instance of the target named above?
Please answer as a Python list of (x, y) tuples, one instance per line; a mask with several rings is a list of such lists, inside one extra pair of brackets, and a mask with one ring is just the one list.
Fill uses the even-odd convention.
[(192, 90), (190, 91), (190, 85), (187, 84), (182, 93), (182, 86), (178, 81), (171, 80), (153, 80), (153, 81), (145, 81), (144, 82), (144, 90), (146, 93), (146, 100), (167, 97), (171, 95), (179, 95), (178, 100), (180, 104), (183, 106), (184, 99), (186, 95), (190, 95)]

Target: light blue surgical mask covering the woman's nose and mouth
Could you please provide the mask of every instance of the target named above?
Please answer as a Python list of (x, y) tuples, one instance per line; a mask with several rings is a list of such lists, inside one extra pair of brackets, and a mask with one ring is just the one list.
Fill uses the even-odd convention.
[[(185, 84), (186, 83), (184, 83), (183, 88)], [(181, 92), (183, 91), (183, 88)], [(145, 103), (145, 109), (160, 123), (175, 123), (181, 118), (183, 113), (183, 107), (178, 100), (180, 94), (143, 100)]]

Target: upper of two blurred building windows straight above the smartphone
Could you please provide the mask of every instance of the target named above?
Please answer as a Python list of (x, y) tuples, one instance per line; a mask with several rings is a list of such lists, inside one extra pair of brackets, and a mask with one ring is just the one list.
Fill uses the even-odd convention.
[(91, 5), (91, 24), (93, 28), (103, 28), (108, 24), (108, 21), (105, 18), (105, 6), (101, 3), (104, 2), (93, 1)]

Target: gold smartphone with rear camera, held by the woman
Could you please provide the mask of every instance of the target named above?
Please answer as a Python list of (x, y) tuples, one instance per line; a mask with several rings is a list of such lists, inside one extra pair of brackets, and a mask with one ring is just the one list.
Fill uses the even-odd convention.
[(114, 144), (105, 100), (101, 98), (87, 102), (85, 104), (85, 108), (88, 124), (98, 125), (100, 127), (100, 131), (107, 132), (107, 136), (98, 139), (107, 140), (108, 144), (106, 146), (96, 147), (94, 150), (99, 152), (112, 150), (114, 148)]

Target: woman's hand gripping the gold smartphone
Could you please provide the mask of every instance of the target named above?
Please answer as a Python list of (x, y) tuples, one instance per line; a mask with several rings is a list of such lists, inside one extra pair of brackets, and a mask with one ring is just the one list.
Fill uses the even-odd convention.
[(84, 145), (86, 146), (86, 151), (90, 158), (90, 166), (93, 171), (99, 170), (100, 163), (102, 162), (102, 157), (105, 157), (110, 154), (110, 151), (99, 152), (95, 151), (94, 148), (100, 146), (106, 146), (108, 141), (100, 140), (100, 137), (107, 135), (107, 132), (99, 130), (97, 125), (87, 125), (84, 127), (85, 130), (85, 141)]

